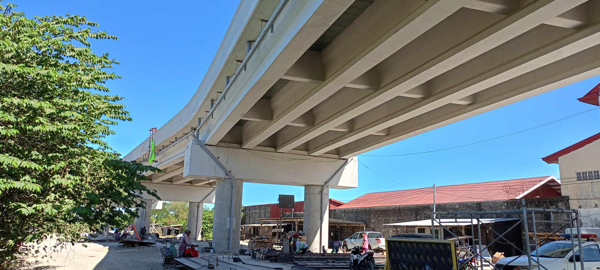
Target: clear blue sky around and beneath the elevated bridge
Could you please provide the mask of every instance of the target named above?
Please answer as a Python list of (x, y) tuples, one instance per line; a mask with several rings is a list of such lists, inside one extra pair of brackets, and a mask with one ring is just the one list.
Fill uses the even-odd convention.
[[(238, 1), (12, 1), (28, 17), (87, 16), (118, 41), (97, 41), (95, 52), (110, 52), (121, 62), (114, 72), (122, 79), (109, 82), (112, 94), (125, 97), (133, 122), (114, 128), (107, 139), (127, 154), (160, 127), (194, 94), (235, 13)], [(426, 131), (370, 155), (406, 154), (449, 148), (533, 127), (591, 109), (576, 98), (598, 84), (599, 77), (574, 83), (437, 130)], [(176, 94), (175, 94), (176, 93)], [(554, 175), (556, 164), (541, 160), (548, 154), (599, 132), (600, 110), (491, 142), (430, 154), (403, 157), (359, 157), (376, 172), (409, 187), (460, 184)], [(323, 180), (325, 181), (325, 179)], [(364, 193), (406, 189), (384, 182), (359, 165), (359, 188), (331, 190), (330, 197), (351, 200)], [(260, 194), (260, 196), (256, 196)], [(284, 185), (244, 184), (244, 205), (272, 203), (277, 194), (302, 200), (304, 189)]]

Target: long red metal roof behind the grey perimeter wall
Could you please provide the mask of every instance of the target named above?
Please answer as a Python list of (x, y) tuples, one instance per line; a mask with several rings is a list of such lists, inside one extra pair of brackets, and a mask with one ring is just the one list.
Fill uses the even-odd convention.
[[(560, 196), (560, 182), (554, 176), (436, 187), (437, 204), (555, 196)], [(338, 209), (431, 204), (433, 204), (433, 187), (428, 187), (367, 193), (339, 206)]]

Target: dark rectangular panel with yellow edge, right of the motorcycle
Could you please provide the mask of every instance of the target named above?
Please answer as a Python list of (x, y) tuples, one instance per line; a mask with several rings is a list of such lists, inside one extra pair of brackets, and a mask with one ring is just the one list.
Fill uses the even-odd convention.
[(458, 270), (452, 240), (386, 238), (385, 270)]

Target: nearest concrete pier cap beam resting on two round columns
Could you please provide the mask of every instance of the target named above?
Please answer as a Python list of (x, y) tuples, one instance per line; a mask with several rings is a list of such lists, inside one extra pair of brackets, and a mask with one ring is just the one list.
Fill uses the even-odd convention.
[[(238, 148), (206, 146), (227, 170), (246, 182), (280, 185), (316, 185), (328, 179), (346, 160), (302, 155), (254, 151)], [(269, 170), (265, 170), (269, 168)], [(331, 181), (331, 188), (353, 188), (358, 185), (358, 161), (352, 160)], [(185, 149), (184, 176), (225, 178), (215, 170), (215, 162), (199, 145), (188, 143)]]

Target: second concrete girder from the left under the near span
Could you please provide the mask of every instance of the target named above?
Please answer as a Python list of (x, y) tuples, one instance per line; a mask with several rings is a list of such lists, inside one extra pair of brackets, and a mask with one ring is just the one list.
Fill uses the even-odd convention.
[[(308, 112), (314, 104), (348, 85), (467, 2), (469, 0), (373, 2), (320, 53), (325, 80), (298, 94), (291, 106), (284, 106), (283, 111), (274, 109), (273, 121), (252, 130), (243, 147), (257, 146), (298, 116)], [(335, 126), (337, 125), (332, 127)], [(287, 150), (293, 148), (295, 146)]]

